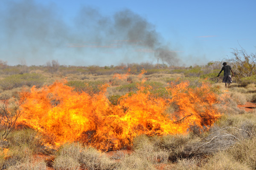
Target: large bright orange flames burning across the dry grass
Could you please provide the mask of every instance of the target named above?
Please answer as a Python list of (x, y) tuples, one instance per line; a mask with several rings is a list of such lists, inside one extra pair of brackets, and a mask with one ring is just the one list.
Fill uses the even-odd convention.
[[(65, 83), (56, 81), (22, 92), (21, 100), (26, 101), (21, 105), (23, 114), (17, 126), (37, 130), (48, 144), (80, 141), (107, 151), (131, 145), (140, 134), (180, 134), (188, 133), (192, 125), (208, 127), (220, 116), (214, 107), (217, 95), (207, 84), (196, 89), (189, 88), (188, 82), (171, 84), (167, 88), (169, 99), (152, 97), (150, 87), (141, 86), (112, 105), (105, 95), (108, 85), (100, 93), (89, 95)], [(172, 105), (178, 109), (166, 114)]]

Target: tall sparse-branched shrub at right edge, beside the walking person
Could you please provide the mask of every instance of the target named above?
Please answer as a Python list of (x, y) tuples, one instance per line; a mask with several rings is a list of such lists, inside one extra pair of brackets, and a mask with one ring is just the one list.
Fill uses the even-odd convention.
[(256, 75), (256, 53), (247, 54), (245, 49), (241, 48), (241, 50), (233, 49), (232, 54), (234, 55), (231, 59), (233, 71), (239, 80)]

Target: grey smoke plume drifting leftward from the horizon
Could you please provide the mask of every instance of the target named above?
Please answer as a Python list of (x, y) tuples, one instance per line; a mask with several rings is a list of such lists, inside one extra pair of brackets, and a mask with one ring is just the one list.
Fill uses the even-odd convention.
[[(72, 21), (62, 18), (54, 4), (33, 0), (3, 1), (0, 52), (9, 64), (25, 58), (29, 65), (58, 60), (66, 65), (108, 65), (161, 59), (179, 61), (155, 26), (125, 9), (103, 16), (82, 7)], [(155, 60), (154, 59), (154, 60)]]

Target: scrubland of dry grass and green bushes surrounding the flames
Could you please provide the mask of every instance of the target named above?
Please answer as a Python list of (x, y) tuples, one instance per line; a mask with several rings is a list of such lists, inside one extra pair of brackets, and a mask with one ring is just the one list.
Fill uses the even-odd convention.
[[(169, 84), (188, 81), (189, 88), (195, 89), (207, 83), (218, 95), (215, 107), (221, 114), (212, 127), (200, 129), (191, 124), (187, 134), (138, 135), (131, 145), (111, 152), (96, 150), (79, 141), (48, 146), (45, 141), (51, 136), (46, 138), (26, 126), (6, 126), (0, 129), (0, 134), (5, 134), (0, 141), (0, 170), (254, 170), (256, 110), (251, 108), (248, 112), (237, 105), (256, 101), (256, 71), (254, 68), (248, 71), (250, 63), (239, 66), (240, 61), (247, 59), (244, 57), (253, 57), (241, 52), (234, 50), (236, 58), (228, 63), (235, 68), (236, 75), (229, 89), (221, 83), (223, 75), (214, 78), (221, 69), (221, 61), (190, 67), (153, 63), (61, 66), (58, 61), (47, 62), (45, 66), (9, 66), (0, 61), (0, 99), (5, 102), (0, 105), (1, 126), (6, 125), (5, 120), (10, 124), (13, 117), (18, 119), (17, 112), (22, 114), (19, 104), (12, 104), (19, 100), (21, 91), (26, 92), (32, 86), (40, 89), (63, 79), (74, 91), (89, 95), (99, 94), (107, 84), (105, 94), (109, 104), (115, 106), (119, 98), (142, 88), (142, 81), (145, 81), (143, 88), (150, 87), (151, 98), (166, 100), (172, 98), (166, 89)], [(246, 76), (238, 74), (242, 69), (247, 69)], [(175, 111), (177, 106), (173, 105), (167, 108), (166, 115)], [(10, 128), (7, 135), (6, 128)], [(39, 156), (43, 158), (37, 159)]]

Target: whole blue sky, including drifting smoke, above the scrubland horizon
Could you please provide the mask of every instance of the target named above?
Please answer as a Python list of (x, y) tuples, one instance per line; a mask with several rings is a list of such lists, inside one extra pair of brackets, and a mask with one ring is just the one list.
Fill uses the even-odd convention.
[(236, 48), (256, 52), (255, 7), (256, 0), (0, 0), (0, 60), (207, 64)]

